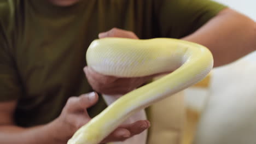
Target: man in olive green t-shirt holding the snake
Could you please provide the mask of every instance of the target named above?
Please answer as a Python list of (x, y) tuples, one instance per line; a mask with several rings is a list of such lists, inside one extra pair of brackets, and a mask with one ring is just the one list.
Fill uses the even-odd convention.
[[(255, 23), (212, 1), (10, 0), (0, 7), (1, 143), (66, 143), (106, 107), (96, 93), (84, 94), (93, 91), (90, 85), (123, 94), (151, 78), (110, 77), (85, 67), (86, 48), (100, 32), (107, 31), (100, 38), (193, 41), (212, 51), (215, 66), (256, 47)], [(129, 139), (149, 125), (122, 125), (102, 143)]]

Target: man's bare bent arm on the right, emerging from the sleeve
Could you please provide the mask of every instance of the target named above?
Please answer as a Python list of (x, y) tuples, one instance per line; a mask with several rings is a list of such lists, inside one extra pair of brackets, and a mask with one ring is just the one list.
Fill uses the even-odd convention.
[(218, 67), (256, 50), (256, 23), (234, 10), (225, 9), (183, 39), (208, 47), (214, 57), (214, 67)]

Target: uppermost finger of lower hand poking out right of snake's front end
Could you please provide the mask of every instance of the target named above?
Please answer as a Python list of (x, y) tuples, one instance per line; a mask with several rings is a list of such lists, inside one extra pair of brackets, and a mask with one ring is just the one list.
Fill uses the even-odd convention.
[(150, 127), (150, 122), (147, 120), (137, 121), (135, 123), (121, 125), (120, 128), (124, 128), (130, 131), (131, 136), (142, 133), (142, 131)]

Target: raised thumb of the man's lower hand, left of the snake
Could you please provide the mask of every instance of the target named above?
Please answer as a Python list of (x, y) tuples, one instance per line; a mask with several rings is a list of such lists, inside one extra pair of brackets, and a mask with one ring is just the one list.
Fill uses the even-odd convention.
[(65, 106), (68, 112), (86, 111), (89, 107), (94, 105), (98, 100), (98, 95), (95, 92), (82, 94), (79, 97), (71, 97), (68, 99)]

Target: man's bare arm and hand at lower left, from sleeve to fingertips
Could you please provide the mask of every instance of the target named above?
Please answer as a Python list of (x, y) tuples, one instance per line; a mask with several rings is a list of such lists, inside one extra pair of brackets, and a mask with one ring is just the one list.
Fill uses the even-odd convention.
[[(91, 118), (86, 109), (94, 105), (97, 100), (98, 95), (94, 92), (82, 94), (79, 97), (71, 97), (68, 99), (61, 115), (53, 122), (31, 128), (18, 127), (11, 120), (16, 101), (0, 103), (0, 117), (2, 118), (2, 121), (0, 121), (0, 143), (67, 143), (75, 131), (90, 121)], [(150, 123), (148, 121), (137, 121), (132, 124), (121, 125), (107, 136), (102, 143), (129, 139), (133, 135), (146, 130), (149, 126)]]

